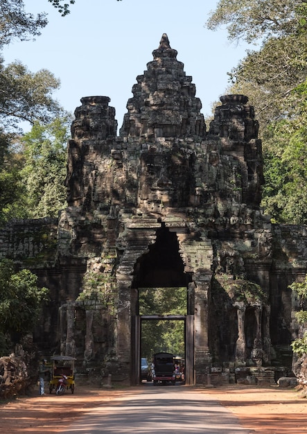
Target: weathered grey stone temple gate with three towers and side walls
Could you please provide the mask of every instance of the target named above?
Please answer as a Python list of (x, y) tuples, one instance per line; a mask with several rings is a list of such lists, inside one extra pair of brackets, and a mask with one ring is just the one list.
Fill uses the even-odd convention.
[(291, 369), (288, 285), (306, 274), (306, 227), (272, 225), (259, 207), (248, 98), (222, 96), (207, 130), (166, 35), (152, 55), (119, 136), (108, 97), (81, 99), (67, 209), (10, 223), (1, 254), (51, 289), (35, 340), (44, 354), (76, 356), (80, 374), (137, 383), (138, 290), (184, 286), (188, 383), (274, 381)]

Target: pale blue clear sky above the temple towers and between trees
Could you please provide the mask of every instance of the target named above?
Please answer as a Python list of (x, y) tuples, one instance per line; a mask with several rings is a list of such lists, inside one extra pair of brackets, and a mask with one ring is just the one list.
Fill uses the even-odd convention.
[(47, 0), (24, 4), (34, 15), (47, 12), (49, 24), (35, 41), (6, 46), (5, 63), (20, 60), (32, 72), (49, 69), (61, 82), (54, 97), (72, 113), (83, 96), (109, 96), (119, 128), (132, 86), (152, 61), (163, 33), (186, 75), (193, 77), (204, 116), (227, 93), (227, 72), (247, 49), (230, 43), (226, 30), (205, 28), (217, 0), (76, 0), (67, 17)]

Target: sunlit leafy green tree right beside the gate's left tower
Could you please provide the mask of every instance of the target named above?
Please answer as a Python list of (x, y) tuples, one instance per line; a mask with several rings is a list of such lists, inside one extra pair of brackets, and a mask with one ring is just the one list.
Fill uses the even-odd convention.
[(56, 217), (66, 206), (69, 121), (58, 118), (48, 125), (35, 122), (20, 139), (24, 155), (21, 184), (25, 188), (21, 207), (26, 217)]

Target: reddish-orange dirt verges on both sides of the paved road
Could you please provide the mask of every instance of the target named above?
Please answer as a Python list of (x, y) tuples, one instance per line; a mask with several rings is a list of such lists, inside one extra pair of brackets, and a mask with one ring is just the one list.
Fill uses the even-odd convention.
[[(184, 386), (182, 386), (184, 387)], [(307, 399), (294, 390), (234, 385), (201, 389), (234, 413), (245, 428), (262, 434), (305, 434)], [(79, 386), (58, 397), (20, 397), (0, 404), (0, 432), (6, 434), (60, 433), (89, 408), (103, 406), (123, 394), (141, 394), (143, 387), (103, 390)]]

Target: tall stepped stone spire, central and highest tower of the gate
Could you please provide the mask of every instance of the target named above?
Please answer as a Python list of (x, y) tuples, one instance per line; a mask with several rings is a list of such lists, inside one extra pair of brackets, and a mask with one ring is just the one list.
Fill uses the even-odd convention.
[(147, 71), (137, 77), (133, 98), (127, 104), (121, 136), (155, 139), (157, 137), (202, 137), (206, 127), (200, 113), (202, 103), (195, 97), (192, 77), (186, 76), (177, 51), (170, 48), (168, 36), (161, 37), (152, 51)]

